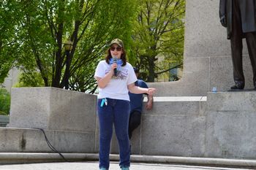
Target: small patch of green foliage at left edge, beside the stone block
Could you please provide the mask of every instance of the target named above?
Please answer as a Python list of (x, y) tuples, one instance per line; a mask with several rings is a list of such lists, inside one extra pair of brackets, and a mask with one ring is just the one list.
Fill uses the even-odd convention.
[(10, 93), (0, 88), (0, 115), (10, 114)]

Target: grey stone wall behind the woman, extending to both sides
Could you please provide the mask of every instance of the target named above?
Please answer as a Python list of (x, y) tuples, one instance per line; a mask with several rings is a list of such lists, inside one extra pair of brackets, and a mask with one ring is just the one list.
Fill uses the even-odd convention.
[[(16, 88), (12, 96), (10, 127), (0, 128), (0, 152), (52, 152), (38, 128), (59, 152), (99, 152), (97, 96), (58, 88)], [(155, 97), (132, 134), (132, 154), (256, 159), (255, 98), (256, 91)], [(111, 152), (118, 153), (115, 135)]]

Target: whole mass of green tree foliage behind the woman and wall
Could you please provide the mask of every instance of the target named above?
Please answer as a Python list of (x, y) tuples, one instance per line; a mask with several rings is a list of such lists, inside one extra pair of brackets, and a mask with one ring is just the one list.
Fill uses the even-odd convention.
[[(183, 60), (184, 0), (2, 2), (0, 83), (18, 66), (16, 87), (64, 88), (68, 78), (70, 90), (93, 93), (94, 70), (114, 38), (124, 41), (129, 63), (147, 81)], [(159, 56), (165, 60), (157, 62)]]

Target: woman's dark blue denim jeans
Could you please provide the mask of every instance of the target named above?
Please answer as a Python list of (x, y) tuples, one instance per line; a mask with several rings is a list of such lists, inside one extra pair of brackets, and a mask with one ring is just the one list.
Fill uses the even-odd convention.
[(119, 145), (120, 166), (129, 166), (129, 101), (107, 98), (108, 105), (102, 104), (102, 98), (97, 101), (99, 117), (99, 168), (109, 168), (110, 142), (113, 125)]

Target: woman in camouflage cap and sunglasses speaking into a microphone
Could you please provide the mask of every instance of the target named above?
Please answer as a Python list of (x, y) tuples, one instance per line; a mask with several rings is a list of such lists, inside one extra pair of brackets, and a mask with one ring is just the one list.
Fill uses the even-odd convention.
[(99, 95), (97, 112), (99, 117), (99, 169), (109, 168), (110, 142), (115, 126), (120, 151), (121, 170), (129, 170), (129, 95), (131, 93), (148, 93), (156, 89), (135, 86), (137, 77), (131, 64), (127, 63), (124, 43), (113, 39), (105, 61), (100, 61), (94, 78), (97, 80)]

